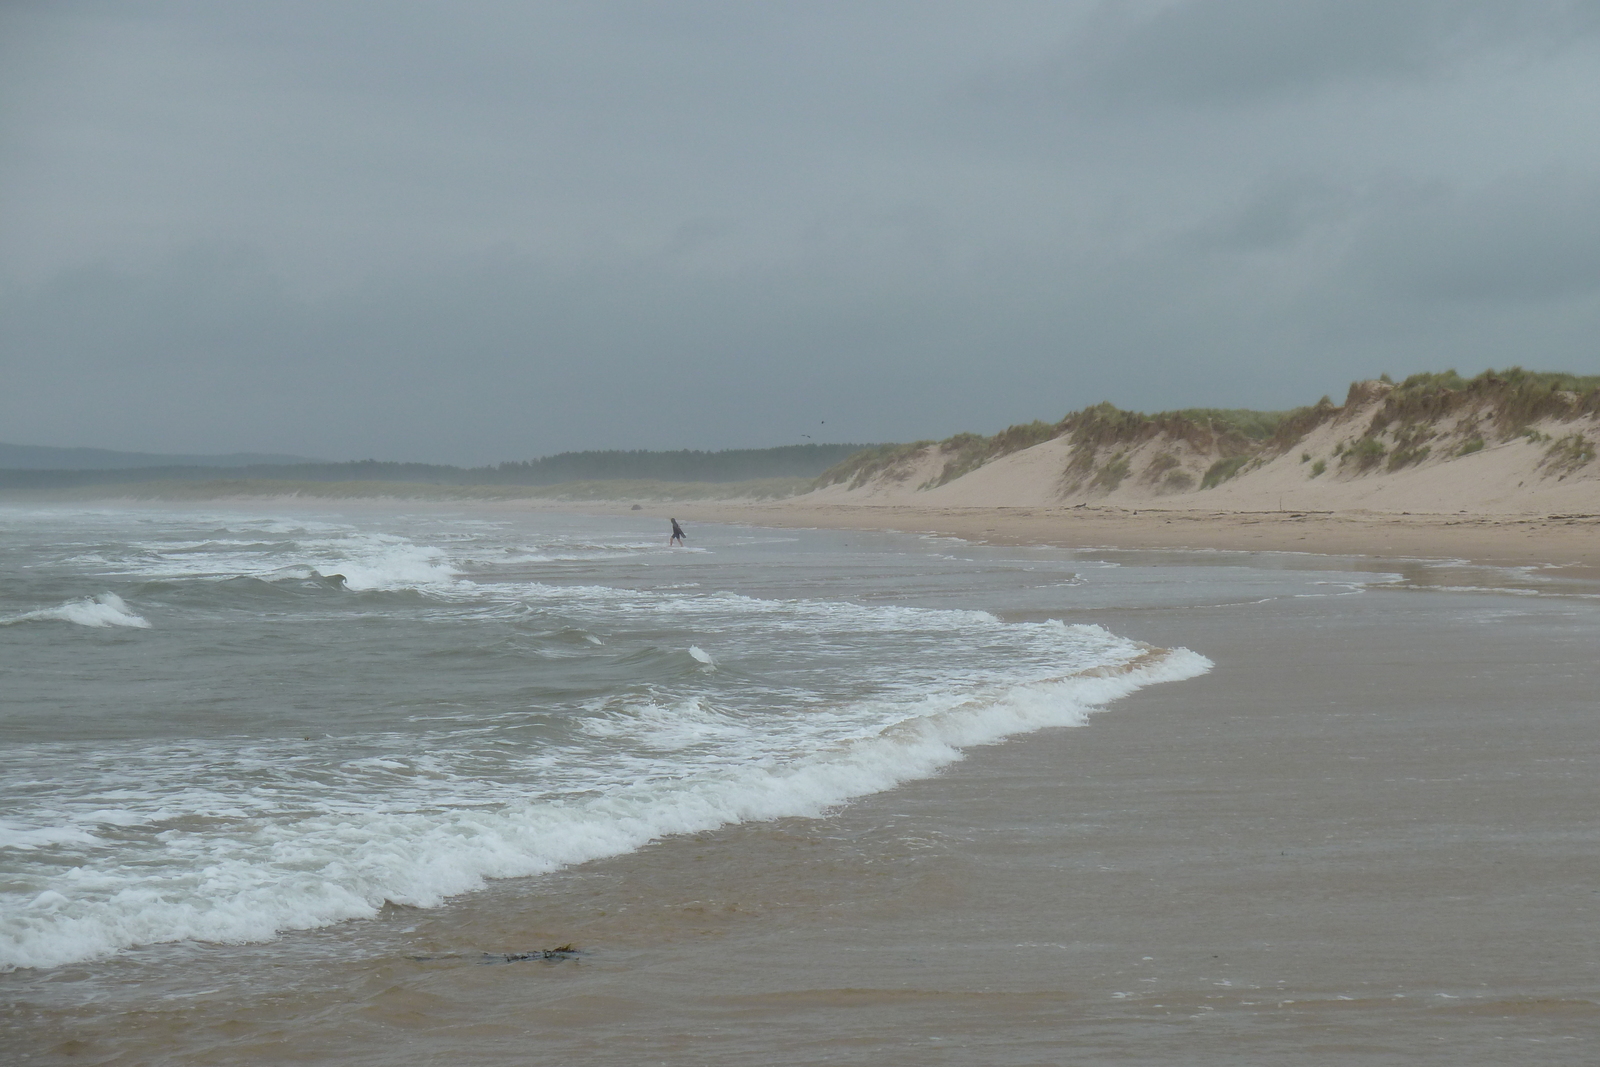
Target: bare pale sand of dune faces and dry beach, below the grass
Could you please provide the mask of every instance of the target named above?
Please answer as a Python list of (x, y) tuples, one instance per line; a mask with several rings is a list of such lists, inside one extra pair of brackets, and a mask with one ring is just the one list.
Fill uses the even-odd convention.
[(1390, 426), (1378, 435), (1386, 458), (1362, 470), (1350, 450), (1373, 435), (1387, 389), (1352, 387), (1346, 408), (1210, 490), (1198, 488), (1205, 472), (1226, 458), (1210, 434), (1098, 445), (1062, 435), (944, 485), (936, 483), (949, 458), (934, 445), (854, 488), (696, 515), (1013, 544), (1451, 557), (1600, 574), (1600, 421), (1546, 419), (1499, 440), (1493, 411), (1464, 410), (1424, 427), (1427, 454), (1395, 470), (1389, 459), (1406, 427)]

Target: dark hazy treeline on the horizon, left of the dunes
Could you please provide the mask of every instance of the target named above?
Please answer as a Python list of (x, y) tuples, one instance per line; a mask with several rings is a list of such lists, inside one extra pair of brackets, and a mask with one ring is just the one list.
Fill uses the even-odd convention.
[[(253, 464), (232, 467), (229, 478), (275, 482), (416, 482), (426, 485), (560, 485), (565, 482), (750, 482), (757, 478), (814, 478), (867, 445), (784, 445), (730, 448), (717, 453), (682, 450), (560, 453), (494, 467), (440, 464), (355, 462)], [(203, 482), (216, 467), (128, 467), (117, 470), (0, 470), (0, 488), (64, 490), (133, 482)]]

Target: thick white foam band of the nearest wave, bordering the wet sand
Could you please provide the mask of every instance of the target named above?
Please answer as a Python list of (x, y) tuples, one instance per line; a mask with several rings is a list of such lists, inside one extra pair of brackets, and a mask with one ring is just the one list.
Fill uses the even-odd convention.
[[(1203, 656), (1176, 649), (1120, 670), (1101, 667), (1022, 685), (925, 694), (909, 705), (878, 709), (893, 712), (890, 725), (835, 739), (810, 755), (723, 761), (685, 777), (613, 782), (554, 801), (442, 813), (331, 811), (290, 824), (264, 822), (254, 835), (254, 843), (267, 849), (264, 862), (258, 856), (218, 856), (203, 841), (165, 835), (170, 848), (194, 848), (206, 862), (133, 885), (117, 872), (82, 864), (67, 880), (74, 896), (50, 889), (6, 907), (0, 918), (0, 966), (58, 966), (181, 939), (262, 941), (285, 929), (371, 917), (386, 901), (435, 907), (480, 888), (485, 878), (536, 875), (627, 853), (669, 833), (818, 816), (851, 797), (933, 774), (960, 760), (966, 747), (1046, 726), (1075, 726), (1144, 685), (1189, 678), (1210, 667)], [(678, 733), (675, 742), (693, 744), (694, 734), (738, 729), (725, 715), (699, 705), (658, 710), (664, 742), (672, 731)]]

